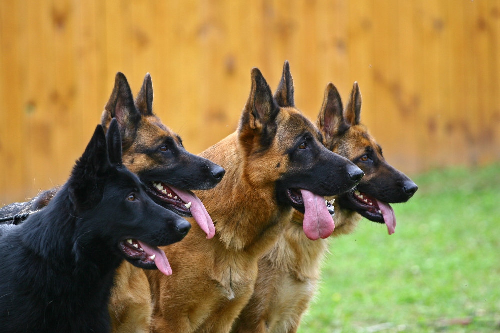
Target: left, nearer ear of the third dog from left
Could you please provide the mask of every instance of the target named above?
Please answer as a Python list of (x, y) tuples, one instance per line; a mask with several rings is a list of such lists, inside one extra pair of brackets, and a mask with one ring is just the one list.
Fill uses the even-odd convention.
[(243, 109), (239, 126), (239, 137), (243, 142), (253, 142), (259, 137), (259, 150), (266, 149), (276, 135), (276, 116), (279, 113), (272, 98), (271, 88), (258, 68), (251, 71), (250, 96)]

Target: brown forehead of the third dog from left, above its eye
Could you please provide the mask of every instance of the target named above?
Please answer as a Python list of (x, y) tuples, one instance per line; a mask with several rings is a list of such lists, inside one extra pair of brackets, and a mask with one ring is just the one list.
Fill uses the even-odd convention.
[(284, 138), (294, 139), (303, 133), (309, 132), (322, 142), (322, 135), (316, 126), (295, 108), (281, 108), (277, 120), (279, 122), (277, 135), (280, 140)]

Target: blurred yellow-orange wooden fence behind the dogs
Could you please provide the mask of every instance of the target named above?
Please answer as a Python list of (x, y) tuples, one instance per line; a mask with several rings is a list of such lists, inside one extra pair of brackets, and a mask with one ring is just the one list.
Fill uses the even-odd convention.
[(186, 147), (234, 131), (259, 67), (297, 106), (347, 99), (393, 165), (500, 158), (498, 0), (0, 0), (0, 204), (62, 184), (122, 71)]

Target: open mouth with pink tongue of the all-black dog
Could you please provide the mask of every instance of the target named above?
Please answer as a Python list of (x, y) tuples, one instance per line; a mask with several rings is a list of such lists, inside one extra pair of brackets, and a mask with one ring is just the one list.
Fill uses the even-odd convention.
[(165, 275), (172, 274), (172, 268), (165, 253), (156, 246), (128, 238), (119, 243), (119, 248), (126, 260), (134, 266), (145, 269), (157, 268)]

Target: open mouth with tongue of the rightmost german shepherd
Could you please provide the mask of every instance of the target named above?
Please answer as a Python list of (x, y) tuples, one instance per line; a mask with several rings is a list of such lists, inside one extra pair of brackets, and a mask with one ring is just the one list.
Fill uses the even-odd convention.
[(349, 195), (350, 201), (355, 206), (355, 210), (370, 221), (385, 223), (390, 234), (394, 233), (396, 227), (396, 217), (392, 207), (383, 201), (355, 190)]

